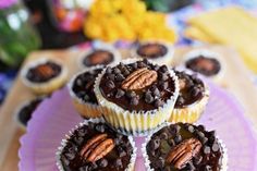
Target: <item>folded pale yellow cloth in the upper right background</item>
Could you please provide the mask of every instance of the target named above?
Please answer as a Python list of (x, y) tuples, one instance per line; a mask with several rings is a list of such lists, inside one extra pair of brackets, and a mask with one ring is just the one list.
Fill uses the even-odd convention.
[(237, 7), (210, 11), (188, 21), (185, 35), (206, 42), (231, 45), (257, 73), (257, 17)]

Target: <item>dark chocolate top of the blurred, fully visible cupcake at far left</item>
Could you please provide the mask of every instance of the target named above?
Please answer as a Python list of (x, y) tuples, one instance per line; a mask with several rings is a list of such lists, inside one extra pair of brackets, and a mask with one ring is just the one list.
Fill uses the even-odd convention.
[(44, 61), (28, 68), (26, 78), (33, 83), (45, 83), (60, 75), (62, 66), (54, 61)]

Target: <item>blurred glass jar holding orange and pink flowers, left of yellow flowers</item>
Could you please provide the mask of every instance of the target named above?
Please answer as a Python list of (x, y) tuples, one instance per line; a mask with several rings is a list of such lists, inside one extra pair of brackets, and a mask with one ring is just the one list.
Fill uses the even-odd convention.
[(53, 25), (64, 32), (78, 32), (94, 0), (48, 0)]

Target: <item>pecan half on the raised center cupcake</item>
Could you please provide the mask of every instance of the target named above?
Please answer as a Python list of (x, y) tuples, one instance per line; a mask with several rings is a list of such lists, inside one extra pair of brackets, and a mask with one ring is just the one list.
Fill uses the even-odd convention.
[(125, 81), (122, 82), (123, 89), (140, 89), (151, 85), (158, 77), (158, 74), (154, 70), (142, 68), (131, 73)]

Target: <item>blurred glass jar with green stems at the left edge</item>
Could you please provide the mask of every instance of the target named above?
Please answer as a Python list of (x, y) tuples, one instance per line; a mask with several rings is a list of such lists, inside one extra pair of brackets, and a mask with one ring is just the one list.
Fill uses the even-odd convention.
[(27, 53), (40, 47), (29, 13), (19, 0), (0, 0), (0, 60), (16, 68)]

